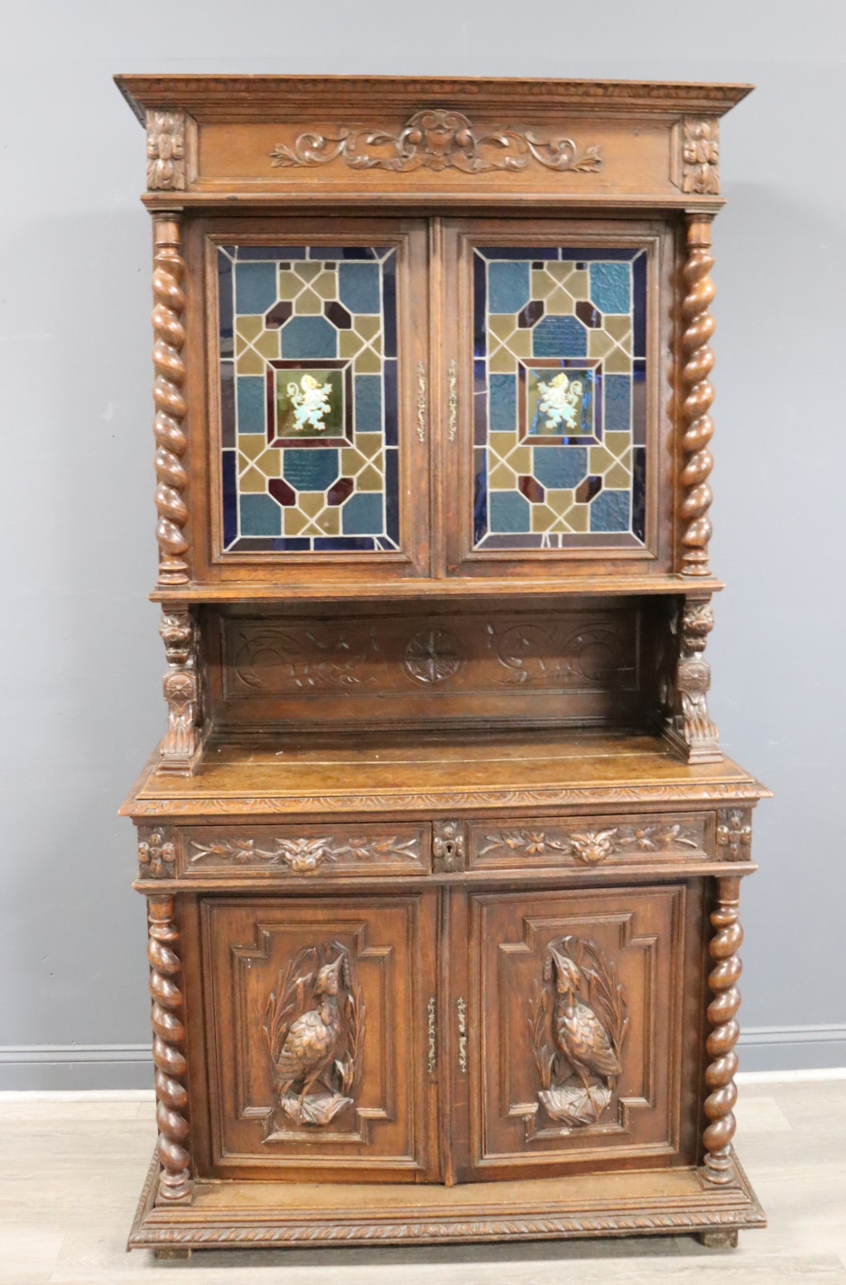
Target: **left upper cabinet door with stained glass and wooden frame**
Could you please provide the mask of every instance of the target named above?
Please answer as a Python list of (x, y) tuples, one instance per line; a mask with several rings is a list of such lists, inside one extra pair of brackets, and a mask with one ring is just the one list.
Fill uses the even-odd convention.
[(424, 225), (216, 220), (192, 248), (208, 287), (207, 573), (428, 572)]

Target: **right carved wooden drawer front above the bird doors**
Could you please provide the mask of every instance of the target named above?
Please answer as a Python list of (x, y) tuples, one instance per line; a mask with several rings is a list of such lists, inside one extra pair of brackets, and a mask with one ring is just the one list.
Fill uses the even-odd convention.
[(471, 870), (653, 865), (702, 861), (714, 852), (714, 813), (684, 816), (516, 817), (472, 821)]

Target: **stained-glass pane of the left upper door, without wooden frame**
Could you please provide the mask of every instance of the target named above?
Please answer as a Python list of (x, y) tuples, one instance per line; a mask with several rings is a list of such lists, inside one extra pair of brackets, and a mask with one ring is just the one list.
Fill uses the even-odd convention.
[(222, 245), (224, 550), (399, 549), (396, 251)]

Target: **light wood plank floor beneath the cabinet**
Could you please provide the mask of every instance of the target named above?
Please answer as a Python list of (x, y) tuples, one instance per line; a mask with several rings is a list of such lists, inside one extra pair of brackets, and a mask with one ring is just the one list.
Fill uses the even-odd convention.
[(735, 1250), (657, 1236), (444, 1249), (219, 1250), (158, 1264), (145, 1250), (123, 1252), (153, 1148), (152, 1104), (0, 1100), (0, 1281), (846, 1285), (846, 1081), (744, 1085), (738, 1121), (738, 1151), (770, 1226), (742, 1232)]

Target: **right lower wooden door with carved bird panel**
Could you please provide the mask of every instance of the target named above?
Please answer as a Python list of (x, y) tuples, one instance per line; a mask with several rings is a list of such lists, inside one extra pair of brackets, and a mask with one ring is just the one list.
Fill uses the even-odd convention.
[(701, 883), (471, 893), (467, 915), (456, 1177), (694, 1164)]

